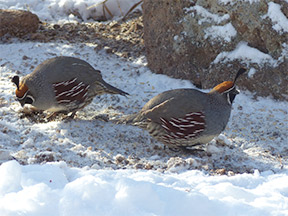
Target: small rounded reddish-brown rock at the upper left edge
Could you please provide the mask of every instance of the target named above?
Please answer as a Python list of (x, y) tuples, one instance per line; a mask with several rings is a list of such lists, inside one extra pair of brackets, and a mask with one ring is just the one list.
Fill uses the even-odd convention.
[(0, 37), (23, 36), (38, 29), (39, 18), (29, 11), (0, 9)]

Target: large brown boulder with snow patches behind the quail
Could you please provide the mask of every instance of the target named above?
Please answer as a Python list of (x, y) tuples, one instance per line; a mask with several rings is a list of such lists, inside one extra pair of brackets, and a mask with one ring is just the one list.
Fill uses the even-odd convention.
[(277, 20), (287, 20), (287, 8), (280, 0), (144, 0), (148, 66), (200, 88), (233, 80), (247, 67), (240, 88), (288, 100), (288, 28)]

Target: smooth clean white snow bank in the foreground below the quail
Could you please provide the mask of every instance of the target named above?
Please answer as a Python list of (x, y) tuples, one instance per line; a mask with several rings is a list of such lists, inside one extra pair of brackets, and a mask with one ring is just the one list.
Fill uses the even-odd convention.
[(288, 173), (206, 176), (0, 166), (1, 215), (287, 215)]

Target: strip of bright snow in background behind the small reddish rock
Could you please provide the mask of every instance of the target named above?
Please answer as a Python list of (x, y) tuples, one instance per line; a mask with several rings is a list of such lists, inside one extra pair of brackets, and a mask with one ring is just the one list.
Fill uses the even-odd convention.
[[(2, 0), (2, 9), (29, 10), (42, 21), (63, 23), (67, 21), (87, 21), (103, 16), (103, 2), (115, 17), (123, 17), (138, 0)], [(141, 7), (136, 8), (140, 10)], [(135, 10), (136, 10), (135, 9)], [(107, 9), (105, 15), (111, 18)]]

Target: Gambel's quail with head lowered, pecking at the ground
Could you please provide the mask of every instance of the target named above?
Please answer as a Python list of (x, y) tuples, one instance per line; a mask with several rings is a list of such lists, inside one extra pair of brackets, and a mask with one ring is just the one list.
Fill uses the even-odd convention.
[(16, 97), (22, 106), (31, 104), (38, 110), (53, 113), (72, 112), (72, 116), (104, 93), (128, 95), (102, 79), (101, 72), (74, 57), (55, 57), (38, 65), (24, 76), (12, 78), (17, 86)]

